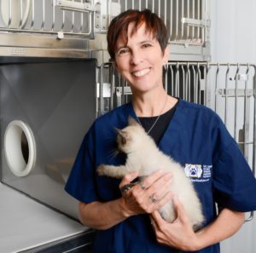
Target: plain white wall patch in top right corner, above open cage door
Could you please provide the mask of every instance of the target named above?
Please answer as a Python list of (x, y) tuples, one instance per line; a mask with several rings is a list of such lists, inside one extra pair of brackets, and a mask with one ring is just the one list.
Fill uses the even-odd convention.
[(210, 0), (212, 61), (256, 63), (256, 1)]

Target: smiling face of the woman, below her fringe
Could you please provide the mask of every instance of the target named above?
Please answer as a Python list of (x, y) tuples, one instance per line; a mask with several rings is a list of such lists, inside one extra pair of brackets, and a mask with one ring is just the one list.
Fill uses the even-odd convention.
[(168, 49), (163, 54), (157, 39), (145, 32), (145, 25), (131, 35), (133, 26), (128, 26), (127, 44), (121, 37), (117, 41), (115, 65), (133, 93), (162, 89), (162, 67), (168, 60)]

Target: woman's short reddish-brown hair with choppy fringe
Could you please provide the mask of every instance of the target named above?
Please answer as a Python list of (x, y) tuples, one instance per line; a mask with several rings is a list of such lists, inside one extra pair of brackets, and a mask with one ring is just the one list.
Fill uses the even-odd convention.
[(160, 43), (160, 48), (164, 53), (168, 44), (168, 36), (166, 25), (163, 20), (157, 14), (151, 12), (150, 9), (144, 9), (143, 11), (137, 9), (128, 9), (116, 16), (108, 27), (108, 53), (112, 60), (114, 60), (116, 43), (121, 36), (128, 41), (128, 26), (131, 22), (135, 23), (132, 33), (137, 31), (137, 28), (146, 25), (146, 32), (152, 32), (154, 38)]

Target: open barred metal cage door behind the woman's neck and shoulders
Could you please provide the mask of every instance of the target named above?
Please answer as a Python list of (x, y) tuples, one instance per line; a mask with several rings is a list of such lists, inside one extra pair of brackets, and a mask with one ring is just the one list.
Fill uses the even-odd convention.
[[(234, 63), (169, 62), (165, 66), (165, 89), (185, 101), (209, 106), (241, 147), (255, 175), (256, 66)], [(131, 89), (105, 63), (99, 71), (97, 114), (131, 101)], [(207, 123), (206, 123), (207, 127)], [(250, 220), (253, 213), (248, 218)]]

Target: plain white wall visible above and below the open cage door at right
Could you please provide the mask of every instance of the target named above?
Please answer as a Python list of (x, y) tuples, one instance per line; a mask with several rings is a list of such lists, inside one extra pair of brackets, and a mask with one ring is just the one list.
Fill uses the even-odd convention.
[[(212, 62), (256, 64), (256, 1), (209, 0)], [(222, 244), (222, 253), (256, 252), (256, 213), (253, 221)]]

